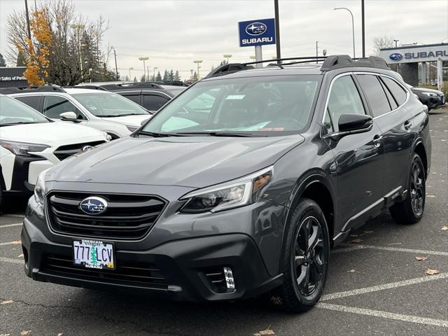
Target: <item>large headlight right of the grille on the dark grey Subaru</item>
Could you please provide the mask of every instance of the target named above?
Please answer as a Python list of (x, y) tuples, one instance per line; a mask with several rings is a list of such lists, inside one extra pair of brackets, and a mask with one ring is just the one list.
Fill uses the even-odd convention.
[(181, 200), (188, 200), (181, 212), (184, 214), (217, 212), (251, 204), (260, 199), (270, 181), (272, 181), (272, 167), (241, 179), (195, 190), (181, 197)]

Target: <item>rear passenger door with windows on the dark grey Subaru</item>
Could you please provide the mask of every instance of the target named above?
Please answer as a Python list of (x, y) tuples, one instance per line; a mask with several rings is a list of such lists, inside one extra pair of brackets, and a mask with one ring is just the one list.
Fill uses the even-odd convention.
[(384, 141), (385, 195), (396, 195), (405, 189), (414, 134), (412, 115), (404, 108), (407, 91), (388, 76), (357, 73), (375, 123)]

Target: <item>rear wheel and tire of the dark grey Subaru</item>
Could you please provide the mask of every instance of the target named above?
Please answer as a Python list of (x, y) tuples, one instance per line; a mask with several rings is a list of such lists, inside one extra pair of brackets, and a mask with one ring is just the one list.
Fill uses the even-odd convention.
[(425, 167), (418, 154), (414, 153), (407, 182), (408, 195), (402, 202), (389, 209), (392, 218), (399, 224), (415, 224), (423, 217), (426, 203)]

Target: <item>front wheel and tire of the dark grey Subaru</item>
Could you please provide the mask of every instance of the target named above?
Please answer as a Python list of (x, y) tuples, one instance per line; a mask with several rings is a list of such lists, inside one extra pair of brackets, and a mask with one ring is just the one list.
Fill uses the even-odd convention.
[(300, 313), (316, 304), (325, 287), (330, 254), (328, 227), (318, 204), (305, 198), (295, 207), (286, 230), (281, 297), (284, 308)]

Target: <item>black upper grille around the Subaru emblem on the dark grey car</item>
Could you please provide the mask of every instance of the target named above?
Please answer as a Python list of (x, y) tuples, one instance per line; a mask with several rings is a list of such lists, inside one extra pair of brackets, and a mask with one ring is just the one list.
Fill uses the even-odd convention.
[[(79, 204), (99, 196), (108, 202), (102, 214), (85, 214)], [(151, 195), (52, 192), (47, 196), (52, 230), (65, 235), (104, 239), (140, 239), (157, 221), (166, 202)]]

